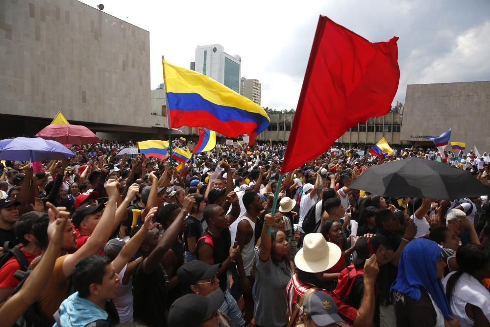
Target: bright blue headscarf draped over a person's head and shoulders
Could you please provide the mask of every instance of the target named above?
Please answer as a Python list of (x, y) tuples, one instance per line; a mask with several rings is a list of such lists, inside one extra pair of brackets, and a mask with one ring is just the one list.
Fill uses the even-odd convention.
[(420, 301), (419, 287), (423, 287), (436, 302), (444, 318), (451, 320), (451, 309), (444, 296), (441, 280), (437, 278), (436, 261), (440, 257), (441, 248), (436, 242), (427, 239), (411, 241), (401, 252), (398, 276), (390, 294), (397, 291)]

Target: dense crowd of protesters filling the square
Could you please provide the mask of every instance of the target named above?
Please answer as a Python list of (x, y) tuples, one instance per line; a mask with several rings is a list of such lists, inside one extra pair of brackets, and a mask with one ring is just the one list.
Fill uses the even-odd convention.
[[(435, 151), (333, 146), (279, 186), (284, 145), (218, 144), (188, 168), (117, 158), (129, 145), (2, 162), (0, 326), (490, 326), (487, 196), (349, 188)], [(485, 185), (489, 162), (447, 160)]]

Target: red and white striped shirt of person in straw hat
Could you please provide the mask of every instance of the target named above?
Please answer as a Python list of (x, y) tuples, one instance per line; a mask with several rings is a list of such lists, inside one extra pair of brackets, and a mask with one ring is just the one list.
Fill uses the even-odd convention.
[[(289, 281), (288, 285), (286, 286), (288, 309), (289, 312), (291, 312), (291, 314), (293, 314), (294, 307), (296, 303), (299, 301), (299, 299), (301, 299), (303, 294), (305, 294), (306, 291), (308, 291), (308, 289), (314, 286), (310, 283), (300, 281), (297, 276), (298, 275), (295, 274)], [(335, 301), (335, 304), (337, 305), (337, 313), (344, 321), (343, 323), (337, 323), (337, 326), (349, 327), (354, 325), (354, 320), (356, 320), (356, 316), (357, 316), (357, 310), (354, 307), (343, 303), (334, 293), (321, 288), (319, 290), (325, 292)], [(296, 315), (295, 318), (295, 322), (298, 322), (299, 321), (298, 317), (301, 317), (302, 315), (303, 315), (303, 306), (299, 308), (298, 314)]]

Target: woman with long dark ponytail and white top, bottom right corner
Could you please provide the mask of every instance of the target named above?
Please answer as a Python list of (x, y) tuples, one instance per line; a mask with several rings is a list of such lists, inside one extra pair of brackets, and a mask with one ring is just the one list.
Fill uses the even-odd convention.
[(490, 292), (482, 285), (490, 277), (490, 250), (479, 244), (462, 245), (456, 262), (458, 271), (442, 281), (454, 317), (462, 327), (490, 327)]

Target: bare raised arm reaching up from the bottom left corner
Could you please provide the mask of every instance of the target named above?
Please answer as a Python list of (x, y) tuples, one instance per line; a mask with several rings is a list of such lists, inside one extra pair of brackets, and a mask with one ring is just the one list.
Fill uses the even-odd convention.
[(39, 299), (41, 292), (51, 277), (54, 262), (58, 257), (61, 244), (63, 243), (63, 234), (66, 223), (70, 219), (70, 213), (65, 211), (66, 208), (55, 208), (49, 202), (47, 205), (49, 207), (48, 248), (44, 252), (39, 264), (30, 273), (29, 277), (27, 277), (20, 291), (1, 306), (0, 317), (2, 319), (0, 326), (14, 325), (27, 308)]

